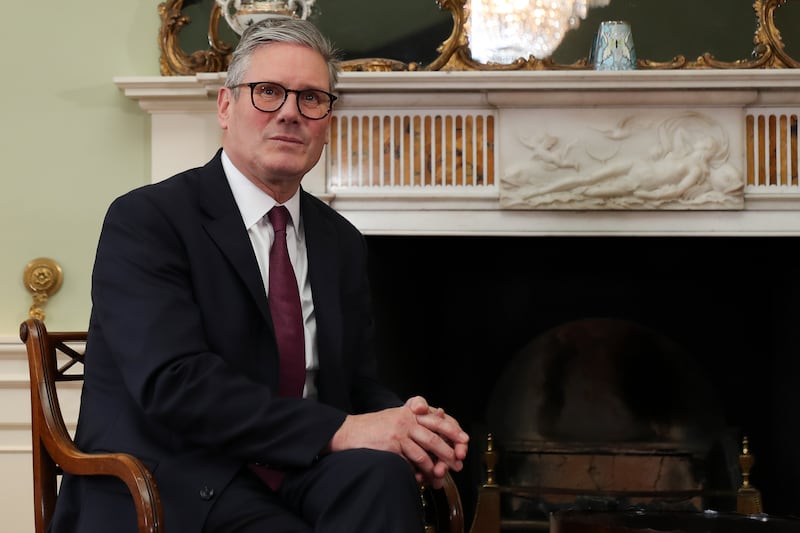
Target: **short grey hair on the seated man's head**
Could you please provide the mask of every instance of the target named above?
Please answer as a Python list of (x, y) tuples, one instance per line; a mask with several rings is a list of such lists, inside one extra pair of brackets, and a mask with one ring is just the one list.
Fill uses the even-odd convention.
[(299, 44), (318, 52), (328, 65), (330, 90), (334, 90), (339, 79), (339, 51), (313, 23), (291, 17), (264, 19), (244, 30), (231, 55), (225, 86), (232, 88), (243, 83), (253, 53), (270, 43)]

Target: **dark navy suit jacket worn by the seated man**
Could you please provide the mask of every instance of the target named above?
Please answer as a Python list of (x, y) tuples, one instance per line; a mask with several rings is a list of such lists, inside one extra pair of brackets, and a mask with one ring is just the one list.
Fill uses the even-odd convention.
[[(347, 413), (401, 404), (376, 377), (365, 240), (305, 191), (319, 398), (276, 396), (267, 298), (220, 153), (116, 199), (92, 273), (77, 444), (141, 458), (167, 531), (182, 533), (202, 529), (214, 495), (243, 465), (307, 467)], [(66, 476), (54, 531), (109, 524), (135, 530), (125, 486)]]

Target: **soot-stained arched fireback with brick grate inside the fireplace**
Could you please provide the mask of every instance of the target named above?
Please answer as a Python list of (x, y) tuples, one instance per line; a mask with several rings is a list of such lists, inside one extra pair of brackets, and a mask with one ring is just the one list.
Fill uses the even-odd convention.
[(681, 346), (627, 320), (536, 337), (486, 410), (502, 458), (494, 478), (509, 487), (504, 519), (541, 530), (564, 509), (735, 510), (738, 439), (703, 374)]

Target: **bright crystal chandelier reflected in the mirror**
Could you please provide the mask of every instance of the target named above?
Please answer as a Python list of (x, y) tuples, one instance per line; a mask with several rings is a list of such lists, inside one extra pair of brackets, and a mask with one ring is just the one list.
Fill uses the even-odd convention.
[(473, 59), (513, 63), (550, 57), (590, 7), (611, 0), (470, 0), (467, 34)]

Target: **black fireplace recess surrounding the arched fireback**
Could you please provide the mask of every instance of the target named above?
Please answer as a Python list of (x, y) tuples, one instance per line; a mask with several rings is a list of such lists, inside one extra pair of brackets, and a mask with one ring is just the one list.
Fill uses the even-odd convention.
[[(764, 511), (800, 514), (797, 238), (367, 241), (385, 380), (403, 396), (422, 394), (445, 407), (471, 434), (466, 467), (454, 475), (467, 524), (485, 434), (497, 425), (487, 419), (488, 404), (504, 368), (553, 328), (594, 319), (650, 329), (689, 354), (726, 427), (749, 438), (751, 483)], [(680, 388), (674, 375), (639, 363), (642, 389), (664, 396)]]

